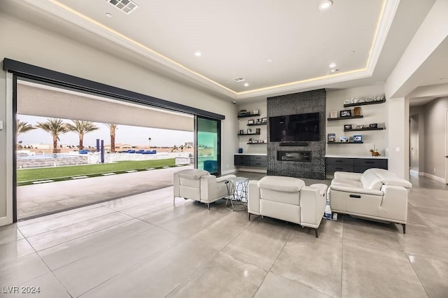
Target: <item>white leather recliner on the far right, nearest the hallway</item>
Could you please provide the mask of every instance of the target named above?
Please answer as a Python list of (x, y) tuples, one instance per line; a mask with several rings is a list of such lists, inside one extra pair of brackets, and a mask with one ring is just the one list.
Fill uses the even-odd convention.
[(406, 233), (407, 192), (412, 184), (384, 169), (364, 173), (335, 172), (328, 187), (333, 212), (396, 222)]

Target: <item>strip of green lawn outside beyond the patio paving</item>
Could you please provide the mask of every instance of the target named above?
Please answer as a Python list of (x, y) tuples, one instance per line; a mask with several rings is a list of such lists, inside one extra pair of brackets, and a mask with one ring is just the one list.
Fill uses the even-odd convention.
[(142, 161), (116, 162), (113, 164), (85, 164), (81, 166), (56, 166), (52, 168), (18, 169), (18, 185), (29, 184), (35, 180), (66, 180), (73, 176), (100, 176), (102, 173), (123, 173), (130, 170), (144, 170), (160, 168), (161, 166), (174, 166), (175, 159), (157, 159)]

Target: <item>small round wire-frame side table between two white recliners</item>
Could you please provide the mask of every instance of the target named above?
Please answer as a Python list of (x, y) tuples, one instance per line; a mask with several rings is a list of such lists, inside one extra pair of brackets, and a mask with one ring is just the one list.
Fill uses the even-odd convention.
[[(248, 178), (232, 177), (225, 180), (227, 185), (228, 197), (225, 200), (225, 207), (232, 211), (247, 210), (247, 185)], [(228, 204), (230, 201), (230, 205)]]

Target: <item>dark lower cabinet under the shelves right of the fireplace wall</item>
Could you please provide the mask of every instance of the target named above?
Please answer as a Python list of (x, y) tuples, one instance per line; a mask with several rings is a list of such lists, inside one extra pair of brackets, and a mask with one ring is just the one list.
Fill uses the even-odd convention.
[(325, 173), (335, 171), (363, 173), (371, 168), (387, 169), (387, 159), (325, 157)]

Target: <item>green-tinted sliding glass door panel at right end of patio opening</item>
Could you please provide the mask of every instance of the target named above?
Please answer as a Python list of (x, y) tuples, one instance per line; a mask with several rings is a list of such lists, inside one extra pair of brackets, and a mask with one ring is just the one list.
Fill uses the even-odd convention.
[(221, 175), (221, 120), (196, 116), (195, 164), (197, 169)]

